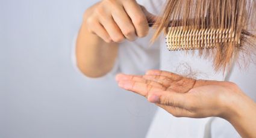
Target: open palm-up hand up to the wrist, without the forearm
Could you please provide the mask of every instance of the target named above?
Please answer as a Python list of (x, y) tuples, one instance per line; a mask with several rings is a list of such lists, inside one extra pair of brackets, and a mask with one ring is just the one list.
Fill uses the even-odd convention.
[(156, 103), (173, 116), (205, 118), (234, 115), (233, 105), (242, 91), (231, 82), (195, 80), (167, 71), (152, 70), (145, 76), (119, 74), (119, 86)]

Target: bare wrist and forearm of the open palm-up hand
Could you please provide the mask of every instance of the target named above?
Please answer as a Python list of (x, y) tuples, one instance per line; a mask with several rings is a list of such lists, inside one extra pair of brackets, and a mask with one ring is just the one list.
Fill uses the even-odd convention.
[(256, 103), (246, 95), (237, 100), (232, 103), (233, 115), (227, 120), (242, 137), (256, 137)]

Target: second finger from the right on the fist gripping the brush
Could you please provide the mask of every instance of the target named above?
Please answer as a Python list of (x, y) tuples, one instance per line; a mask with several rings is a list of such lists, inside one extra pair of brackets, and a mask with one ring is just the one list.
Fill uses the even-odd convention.
[(125, 35), (125, 38), (134, 41), (136, 40), (136, 30), (131, 22), (130, 17), (126, 14), (123, 7), (116, 7), (116, 10), (113, 10), (112, 16), (116, 24), (119, 26), (122, 34)]

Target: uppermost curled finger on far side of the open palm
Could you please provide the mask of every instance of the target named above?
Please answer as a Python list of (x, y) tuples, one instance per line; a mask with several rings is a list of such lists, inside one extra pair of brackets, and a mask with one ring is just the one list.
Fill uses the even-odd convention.
[(180, 76), (175, 73), (170, 73), (169, 71), (161, 71), (161, 70), (149, 70), (146, 72), (147, 75), (157, 75), (157, 76), (165, 76), (171, 80), (181, 80), (183, 76)]

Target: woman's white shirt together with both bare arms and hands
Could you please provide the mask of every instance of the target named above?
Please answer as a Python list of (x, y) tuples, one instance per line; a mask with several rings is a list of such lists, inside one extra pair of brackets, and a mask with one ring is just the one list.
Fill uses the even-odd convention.
[[(169, 2), (174, 4), (176, 1)], [(180, 5), (182, 2), (186, 1), (181, 1)], [(139, 3), (157, 14), (164, 1)], [(212, 64), (210, 60), (196, 56), (196, 51), (195, 55), (169, 52), (162, 37), (157, 41), (159, 43), (154, 44), (163, 45), (160, 54), (156, 46), (145, 46), (145, 42), (152, 37), (148, 20), (156, 19), (146, 9), (132, 0), (105, 0), (89, 8), (84, 14), (84, 23), (76, 43), (80, 70), (89, 77), (101, 77), (117, 71), (139, 74), (156, 68), (159, 60), (161, 70), (183, 76), (192, 70), (187, 76), (196, 76), (200, 80), (158, 70), (148, 71), (144, 76), (119, 74), (116, 77), (120, 87), (147, 97), (174, 116), (189, 117), (176, 118), (158, 109), (147, 137), (239, 137), (239, 134), (255, 137), (254, 101), (239, 88), (242, 82), (238, 81), (242, 83), (239, 86), (224, 82), (239, 76), (238, 65), (233, 64), (233, 71), (216, 73), (215, 62)], [(148, 37), (136, 40), (137, 37), (145, 37), (148, 32)], [(228, 63), (222, 62), (222, 66)], [(249, 70), (254, 71), (255, 66), (250, 65)], [(252, 77), (252, 80), (255, 78)], [(256, 98), (254, 89), (252, 86), (247, 92), (251, 98)], [(207, 118), (210, 116), (215, 117)], [(231, 122), (239, 134), (224, 119)]]

